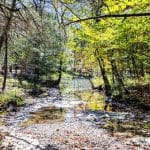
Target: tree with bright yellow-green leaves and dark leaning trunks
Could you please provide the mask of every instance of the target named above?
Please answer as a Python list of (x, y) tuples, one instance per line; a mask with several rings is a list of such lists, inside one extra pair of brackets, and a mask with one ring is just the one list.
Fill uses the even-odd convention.
[[(89, 17), (84, 16), (84, 18), (82, 17), (83, 19), (81, 19), (81, 16), (80, 19), (72, 17), (72, 21), (66, 23), (80, 22), (80, 24), (72, 25), (71, 27), (76, 35), (75, 39), (78, 39), (74, 40), (77, 43), (73, 45), (74, 49), (79, 49), (81, 45), (78, 43), (86, 41), (84, 48), (80, 48), (80, 53), (83, 53), (82, 51), (85, 50), (86, 53), (84, 54), (89, 56), (89, 58), (91, 58), (90, 55), (94, 54), (95, 61), (99, 63), (102, 72), (105, 90), (111, 91), (107, 76), (112, 74), (114, 84), (117, 83), (118, 89), (120, 89), (119, 92), (125, 91), (129, 93), (124, 83), (124, 78), (129, 76), (128, 71), (130, 70), (131, 74), (135, 72), (134, 74), (139, 75), (141, 73), (141, 75), (144, 75), (144, 59), (148, 62), (148, 57), (142, 54), (142, 50), (147, 51), (147, 53), (149, 50), (147, 44), (149, 38), (147, 37), (148, 34), (146, 34), (149, 30), (147, 26), (148, 17), (146, 16), (149, 16), (149, 13), (143, 14), (141, 12), (141, 7), (146, 11), (149, 10), (148, 1), (146, 0), (141, 4), (138, 1), (103, 2), (89, 0), (88, 2), (88, 8), (91, 10)], [(120, 17), (124, 17), (124, 19), (122, 20)], [(144, 26), (146, 27), (143, 28)], [(141, 44), (142, 46), (136, 46), (139, 44), (136, 44), (134, 41), (137, 41), (137, 43), (146, 41), (146, 44), (143, 43)], [(144, 47), (144, 45), (147, 46)], [(97, 63), (95, 62), (96, 65)]]

